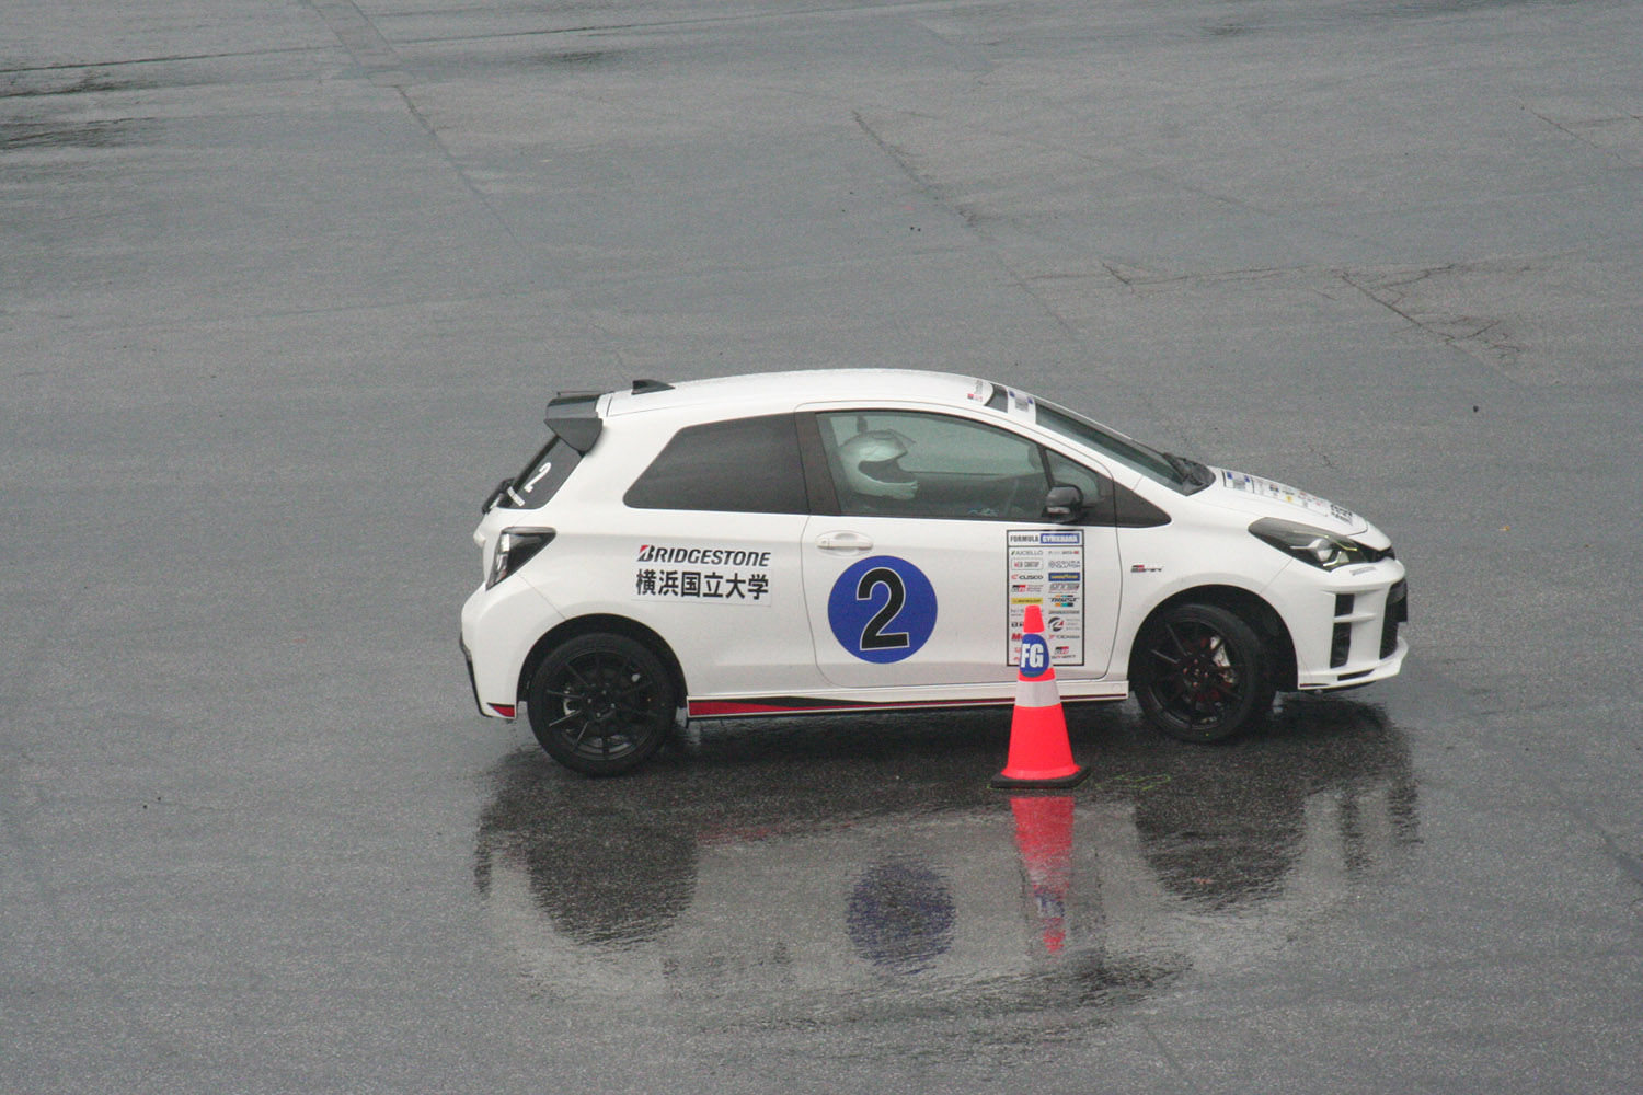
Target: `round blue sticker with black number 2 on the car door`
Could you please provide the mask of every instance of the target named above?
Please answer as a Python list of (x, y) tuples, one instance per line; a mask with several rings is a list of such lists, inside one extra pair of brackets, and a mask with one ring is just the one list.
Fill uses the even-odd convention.
[(900, 662), (935, 630), (935, 586), (907, 560), (874, 555), (833, 583), (826, 622), (853, 657), (881, 665)]

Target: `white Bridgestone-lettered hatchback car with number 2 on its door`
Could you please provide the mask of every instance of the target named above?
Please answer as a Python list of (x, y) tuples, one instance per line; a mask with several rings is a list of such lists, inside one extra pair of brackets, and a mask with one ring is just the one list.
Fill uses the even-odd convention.
[(1403, 565), (1349, 509), (1010, 387), (845, 369), (559, 394), (485, 504), (480, 712), (628, 770), (687, 717), (1009, 704), (1040, 606), (1061, 698), (1234, 737), (1398, 671)]

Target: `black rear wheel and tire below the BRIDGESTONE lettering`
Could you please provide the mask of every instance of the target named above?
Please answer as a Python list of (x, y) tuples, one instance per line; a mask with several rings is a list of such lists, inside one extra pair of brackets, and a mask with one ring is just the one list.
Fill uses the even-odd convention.
[(542, 658), (526, 703), (531, 732), (554, 760), (585, 775), (619, 775), (667, 739), (679, 691), (642, 642), (595, 632)]

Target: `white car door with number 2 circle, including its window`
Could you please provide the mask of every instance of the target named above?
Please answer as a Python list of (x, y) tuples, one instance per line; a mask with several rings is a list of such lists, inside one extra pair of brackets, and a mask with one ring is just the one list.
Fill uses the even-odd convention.
[(1032, 438), (928, 410), (817, 410), (836, 514), (800, 550), (822, 675), (846, 688), (1007, 686), (1029, 604), (1053, 619), (1058, 673), (1101, 676), (1111, 625), (1089, 629), (1094, 575), (1116, 619), (1111, 527), (1045, 520)]

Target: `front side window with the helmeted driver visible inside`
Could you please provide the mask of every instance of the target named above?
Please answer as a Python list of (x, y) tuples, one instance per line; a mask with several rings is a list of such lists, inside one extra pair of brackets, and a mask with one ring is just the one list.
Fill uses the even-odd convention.
[(1043, 514), (1043, 456), (1022, 437), (917, 410), (817, 419), (846, 515), (1038, 520)]

